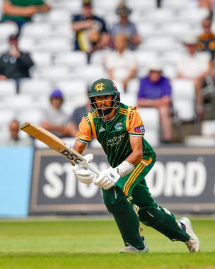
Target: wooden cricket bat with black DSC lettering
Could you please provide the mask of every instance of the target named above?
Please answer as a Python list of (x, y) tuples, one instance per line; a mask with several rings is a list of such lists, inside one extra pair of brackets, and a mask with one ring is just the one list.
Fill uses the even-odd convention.
[(78, 165), (88, 168), (97, 176), (99, 175), (100, 171), (98, 171), (98, 169), (96, 169), (94, 166), (91, 166), (91, 164), (88, 164), (86, 159), (84, 159), (83, 156), (79, 154), (79, 152), (75, 151), (72, 147), (69, 147), (68, 144), (66, 144), (56, 135), (53, 135), (51, 132), (31, 122), (23, 123), (23, 125), (21, 125), (21, 130), (23, 132), (27, 132), (28, 135), (35, 137), (41, 142), (47, 144), (47, 146), (62, 154), (71, 162), (73, 166)]

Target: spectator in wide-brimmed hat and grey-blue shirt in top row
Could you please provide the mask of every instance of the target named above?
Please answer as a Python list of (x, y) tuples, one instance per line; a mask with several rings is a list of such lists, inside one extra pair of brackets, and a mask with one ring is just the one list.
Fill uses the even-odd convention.
[(124, 33), (128, 40), (128, 46), (131, 50), (135, 50), (141, 43), (141, 38), (136, 30), (136, 25), (129, 21), (129, 14), (132, 10), (126, 6), (124, 1), (121, 1), (117, 6), (116, 13), (120, 16), (120, 21), (112, 26), (110, 31), (112, 38), (118, 33)]

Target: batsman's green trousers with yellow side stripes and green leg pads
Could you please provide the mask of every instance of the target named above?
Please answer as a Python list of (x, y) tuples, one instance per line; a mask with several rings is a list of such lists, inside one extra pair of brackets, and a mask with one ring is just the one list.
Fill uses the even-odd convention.
[[(151, 158), (143, 159), (132, 173), (120, 178), (114, 187), (103, 190), (104, 203), (115, 218), (125, 246), (131, 244), (137, 249), (144, 248), (139, 222), (160, 231), (172, 241), (186, 242), (190, 239), (175, 216), (158, 205), (149, 193), (145, 176), (154, 162)], [(137, 214), (134, 205), (139, 207)]]

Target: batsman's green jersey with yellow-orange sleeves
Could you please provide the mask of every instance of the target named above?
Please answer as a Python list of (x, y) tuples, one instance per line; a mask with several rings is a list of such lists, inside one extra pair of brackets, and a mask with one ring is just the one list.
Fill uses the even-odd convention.
[(129, 136), (142, 137), (143, 159), (146, 164), (155, 160), (151, 145), (144, 139), (144, 124), (135, 107), (120, 103), (115, 118), (105, 122), (96, 110), (84, 115), (79, 125), (77, 139), (89, 143), (94, 138), (103, 147), (110, 166), (116, 167), (132, 153)]

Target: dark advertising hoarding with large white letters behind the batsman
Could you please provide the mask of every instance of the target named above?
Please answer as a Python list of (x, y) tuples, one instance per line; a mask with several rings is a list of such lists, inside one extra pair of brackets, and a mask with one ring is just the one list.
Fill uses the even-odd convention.
[[(86, 149), (100, 171), (108, 168), (102, 149)], [(173, 212), (215, 211), (215, 149), (156, 149), (146, 178), (153, 198)], [(30, 214), (107, 213), (100, 188), (79, 183), (71, 164), (52, 149), (35, 149)]]

